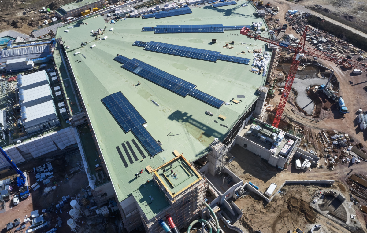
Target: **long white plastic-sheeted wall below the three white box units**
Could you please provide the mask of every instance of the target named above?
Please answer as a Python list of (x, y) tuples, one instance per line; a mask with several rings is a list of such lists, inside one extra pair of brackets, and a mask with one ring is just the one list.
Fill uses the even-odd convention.
[[(73, 127), (70, 126), (57, 132), (46, 134), (44, 136), (34, 138), (33, 140), (5, 148), (4, 151), (8, 156), (10, 156), (13, 162), (17, 164), (25, 161), (23, 156), (19, 153), (19, 150), (24, 153), (31, 154), (33, 158), (37, 158), (48, 152), (56, 151), (58, 149), (57, 147), (64, 149), (65, 147), (75, 143), (77, 143), (77, 138)], [(1, 157), (0, 168), (7, 166), (10, 166), (10, 164)]]

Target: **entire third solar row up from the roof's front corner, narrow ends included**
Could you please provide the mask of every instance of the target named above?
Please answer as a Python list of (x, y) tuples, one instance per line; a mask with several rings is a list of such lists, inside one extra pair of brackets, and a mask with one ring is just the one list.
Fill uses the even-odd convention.
[[(248, 64), (250, 63), (250, 59), (248, 58), (241, 58), (236, 56), (228, 56), (223, 55), (220, 52), (206, 50), (206, 49), (197, 49), (191, 47), (185, 47), (180, 45), (174, 44), (166, 44), (156, 41), (142, 42), (142, 41), (135, 41), (135, 44), (142, 44), (145, 45), (144, 50), (159, 52), (159, 53), (166, 53), (170, 55), (176, 55), (186, 58), (194, 58), (199, 60), (206, 60), (209, 62), (217, 62), (217, 60), (222, 60), (226, 62), (234, 62), (240, 64)], [(139, 46), (139, 45), (135, 45)], [(144, 46), (141, 46), (144, 47)]]

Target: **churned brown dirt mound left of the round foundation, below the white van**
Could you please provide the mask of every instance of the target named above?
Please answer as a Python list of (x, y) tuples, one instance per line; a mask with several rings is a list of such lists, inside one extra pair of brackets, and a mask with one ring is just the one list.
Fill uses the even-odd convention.
[(323, 215), (317, 214), (310, 207), (309, 202), (315, 190), (321, 190), (321, 188), (302, 185), (284, 186), (281, 189), (282, 195), (276, 196), (266, 206), (255, 195), (243, 196), (235, 201), (243, 211), (239, 220), (240, 227), (248, 232), (255, 230), (261, 230), (264, 233), (288, 232), (297, 227), (307, 232), (306, 225), (316, 223), (322, 226), (324, 233), (350, 232)]

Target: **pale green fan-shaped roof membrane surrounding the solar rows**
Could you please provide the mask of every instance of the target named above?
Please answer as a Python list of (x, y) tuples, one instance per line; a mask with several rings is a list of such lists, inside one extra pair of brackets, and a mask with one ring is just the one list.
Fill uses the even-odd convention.
[[(257, 99), (256, 90), (260, 85), (264, 85), (265, 77), (251, 73), (250, 65), (225, 61), (214, 63), (144, 51), (141, 47), (132, 46), (136, 40), (159, 41), (218, 51), (224, 55), (241, 56), (251, 60), (252, 53), (237, 55), (236, 52), (247, 51), (246, 47), (249, 49), (264, 48), (264, 42), (254, 41), (240, 35), (239, 30), (229, 33), (172, 33), (169, 35), (141, 32), (143, 26), (252, 25), (252, 22), (262, 21), (261, 18), (254, 18), (252, 14), (255, 10), (251, 6), (240, 8), (236, 6), (212, 8), (210, 6), (194, 8), (192, 11), (193, 14), (162, 19), (128, 18), (113, 24), (105, 23), (100, 16), (90, 17), (83, 19), (83, 22), (88, 24), (76, 26), (76, 23), (71, 23), (68, 26), (74, 27), (68, 29), (69, 32), (64, 32), (66, 27), (60, 27), (57, 31), (57, 37), (62, 37), (65, 46), (70, 46), (67, 49), (70, 51), (68, 58), (119, 201), (124, 200), (147, 180), (152, 179), (152, 174), (145, 170), (146, 166), (155, 169), (170, 161), (174, 158), (172, 151), (177, 150), (179, 154), (183, 153), (188, 161), (194, 161), (207, 154), (208, 145), (214, 141), (214, 138), (222, 140), (225, 137), (241, 115)], [(265, 25), (264, 21), (263, 23)], [(103, 29), (105, 25), (107, 28), (101, 38), (107, 36), (106, 40), (95, 40), (95, 37), (91, 36), (91, 30)], [(112, 32), (109, 32), (110, 27), (113, 27)], [(211, 43), (213, 38), (217, 39), (217, 43)], [(232, 45), (234, 49), (222, 48), (231, 41), (235, 41)], [(88, 44), (80, 48), (81, 42), (88, 42)], [(94, 44), (96, 46), (90, 48)], [(76, 52), (80, 54), (73, 55)], [(244, 95), (245, 98), (241, 98), (240, 104), (230, 102), (230, 105), (223, 104), (220, 109), (217, 109), (194, 97), (179, 96), (135, 73), (122, 69), (121, 63), (113, 60), (117, 54), (141, 60), (157, 69), (194, 83), (198, 90), (220, 100), (229, 102), (232, 98), (237, 99), (237, 95)], [(137, 85), (138, 82), (141, 85)], [(146, 130), (155, 140), (162, 143), (161, 147), (164, 151), (152, 159), (147, 156), (148, 153), (134, 134), (124, 133), (101, 101), (104, 97), (119, 91), (146, 120)], [(159, 106), (156, 106), (151, 100), (154, 100)], [(210, 111), (214, 115), (207, 115), (205, 111)], [(224, 121), (219, 119), (219, 114), (226, 116), (226, 119)], [(215, 123), (214, 120), (218, 123)], [(131, 142), (132, 139), (143, 149), (147, 158), (143, 159), (139, 154)], [(132, 145), (138, 161), (132, 159), (131, 163), (128, 160), (121, 145), (121, 143), (126, 145), (126, 141)], [(126, 160), (127, 167), (117, 147)], [(131, 152), (130, 156), (132, 156)], [(140, 178), (135, 178), (135, 174), (140, 170), (143, 170)]]

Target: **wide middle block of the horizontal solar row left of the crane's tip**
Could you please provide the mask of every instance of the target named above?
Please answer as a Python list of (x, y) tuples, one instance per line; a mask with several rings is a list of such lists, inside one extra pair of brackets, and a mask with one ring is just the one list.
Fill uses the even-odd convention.
[(222, 24), (157, 25), (155, 27), (155, 33), (209, 33), (209, 32), (224, 32), (223, 25)]

